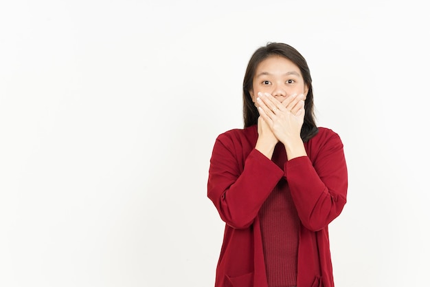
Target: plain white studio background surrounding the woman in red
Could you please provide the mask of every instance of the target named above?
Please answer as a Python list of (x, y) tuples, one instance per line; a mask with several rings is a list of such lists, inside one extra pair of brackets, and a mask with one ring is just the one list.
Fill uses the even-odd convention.
[(268, 41), (345, 145), (336, 286), (429, 286), (424, 3), (1, 0), (0, 286), (213, 286), (209, 160)]

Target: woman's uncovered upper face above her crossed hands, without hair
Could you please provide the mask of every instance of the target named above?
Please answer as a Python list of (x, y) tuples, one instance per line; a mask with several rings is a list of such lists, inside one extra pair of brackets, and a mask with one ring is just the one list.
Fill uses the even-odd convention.
[(306, 94), (308, 87), (304, 83), (299, 67), (283, 56), (269, 56), (258, 64), (249, 91), (255, 103), (258, 92), (269, 93), (280, 102), (292, 94)]

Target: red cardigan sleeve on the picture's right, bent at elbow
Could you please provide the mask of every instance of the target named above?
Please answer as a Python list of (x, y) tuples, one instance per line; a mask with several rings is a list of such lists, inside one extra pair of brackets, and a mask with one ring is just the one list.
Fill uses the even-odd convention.
[(324, 142), (314, 164), (307, 156), (285, 163), (291, 196), (302, 224), (310, 231), (328, 226), (346, 204), (348, 172), (337, 134)]

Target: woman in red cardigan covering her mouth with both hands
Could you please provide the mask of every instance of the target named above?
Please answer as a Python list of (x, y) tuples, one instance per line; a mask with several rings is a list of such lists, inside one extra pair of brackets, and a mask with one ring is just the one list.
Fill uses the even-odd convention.
[(243, 118), (210, 159), (207, 196), (225, 222), (215, 286), (334, 286), (328, 224), (346, 204), (346, 160), (338, 134), (315, 124), (295, 48), (268, 43), (251, 56)]

